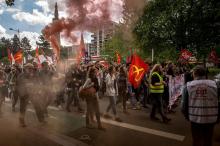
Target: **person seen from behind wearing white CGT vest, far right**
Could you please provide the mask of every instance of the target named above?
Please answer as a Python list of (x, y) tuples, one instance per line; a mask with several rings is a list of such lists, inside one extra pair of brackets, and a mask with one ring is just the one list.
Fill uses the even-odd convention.
[(219, 91), (201, 66), (193, 69), (193, 79), (182, 92), (182, 113), (191, 122), (193, 146), (212, 146), (214, 126), (220, 119)]

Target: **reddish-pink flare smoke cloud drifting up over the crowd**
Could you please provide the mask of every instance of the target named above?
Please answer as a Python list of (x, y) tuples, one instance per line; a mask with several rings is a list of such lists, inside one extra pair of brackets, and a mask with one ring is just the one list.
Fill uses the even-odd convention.
[(63, 32), (64, 37), (74, 43), (77, 38), (73, 35), (73, 31), (91, 31), (111, 19), (109, 9), (111, 0), (65, 0), (64, 2), (68, 17), (54, 21), (42, 30), (58, 59), (60, 46), (56, 40), (57, 33)]

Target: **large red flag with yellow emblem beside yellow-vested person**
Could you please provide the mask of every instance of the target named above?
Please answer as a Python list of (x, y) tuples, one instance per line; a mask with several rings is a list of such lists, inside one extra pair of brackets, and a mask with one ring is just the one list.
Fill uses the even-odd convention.
[(148, 64), (145, 64), (144, 61), (138, 55), (133, 54), (132, 62), (128, 73), (128, 79), (134, 88), (137, 88), (140, 85), (141, 80), (148, 69)]

